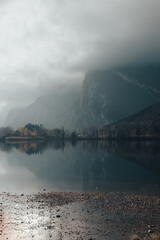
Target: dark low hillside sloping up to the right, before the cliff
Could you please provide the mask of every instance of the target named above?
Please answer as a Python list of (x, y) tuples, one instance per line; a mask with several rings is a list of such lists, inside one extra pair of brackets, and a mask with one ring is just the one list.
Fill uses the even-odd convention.
[(160, 102), (102, 129), (107, 138), (159, 138)]

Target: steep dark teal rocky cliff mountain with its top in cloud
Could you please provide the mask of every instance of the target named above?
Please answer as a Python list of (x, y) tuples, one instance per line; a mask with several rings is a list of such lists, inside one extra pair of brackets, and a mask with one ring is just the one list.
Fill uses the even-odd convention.
[(160, 67), (127, 67), (86, 75), (80, 102), (82, 126), (103, 126), (160, 100)]

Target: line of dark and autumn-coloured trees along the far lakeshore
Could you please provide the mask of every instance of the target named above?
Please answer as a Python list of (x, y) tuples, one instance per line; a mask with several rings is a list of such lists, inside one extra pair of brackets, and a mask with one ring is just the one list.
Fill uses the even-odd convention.
[(97, 128), (95, 126), (82, 128), (81, 130), (68, 131), (64, 128), (47, 129), (42, 124), (28, 123), (25, 126), (13, 130), (11, 127), (0, 128), (0, 140), (6, 138), (46, 138), (46, 139), (126, 139), (126, 138), (159, 138), (159, 122), (117, 122), (108, 126)]

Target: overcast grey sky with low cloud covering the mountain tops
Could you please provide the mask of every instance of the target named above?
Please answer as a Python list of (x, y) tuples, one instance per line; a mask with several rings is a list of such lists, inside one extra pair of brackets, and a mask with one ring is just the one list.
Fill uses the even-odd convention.
[(160, 0), (0, 0), (0, 112), (87, 71), (160, 60)]

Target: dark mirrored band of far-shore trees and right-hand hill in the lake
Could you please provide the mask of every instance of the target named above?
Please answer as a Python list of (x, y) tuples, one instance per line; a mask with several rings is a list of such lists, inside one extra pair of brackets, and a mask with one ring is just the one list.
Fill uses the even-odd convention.
[(160, 172), (159, 141), (37, 141), (0, 143), (0, 150), (11, 152), (14, 148), (28, 155), (42, 154), (47, 149), (63, 151), (69, 146), (80, 145), (83, 151), (96, 153), (99, 150), (138, 163), (152, 171)]

